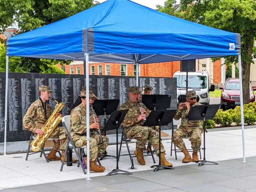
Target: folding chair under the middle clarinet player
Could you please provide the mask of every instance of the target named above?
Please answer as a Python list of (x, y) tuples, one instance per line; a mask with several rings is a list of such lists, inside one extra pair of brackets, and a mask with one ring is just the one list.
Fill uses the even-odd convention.
[[(133, 157), (136, 157), (136, 156), (132, 156), (134, 155), (134, 153), (131, 153), (130, 152), (130, 149), (129, 149), (129, 145), (128, 145), (128, 142), (133, 142), (133, 143), (137, 143), (137, 139), (128, 139), (124, 133), (124, 128), (123, 126), (121, 126), (122, 128), (122, 136), (121, 136), (121, 142), (120, 142), (120, 148), (119, 148), (119, 153), (118, 153), (118, 161), (120, 159), (120, 156), (125, 156), (125, 155), (129, 155), (130, 157), (130, 160), (131, 160), (131, 164), (132, 164), (132, 167), (134, 167), (134, 164), (133, 164)], [(127, 150), (128, 150), (128, 154), (124, 154), (124, 155), (121, 155), (121, 148), (122, 148), (122, 143), (123, 141), (125, 142), (126, 144), (126, 147), (127, 147)], [(156, 163), (155, 161), (155, 158), (154, 158), (154, 155), (153, 155), (153, 152), (152, 152), (152, 149), (151, 149), (151, 143), (149, 140), (147, 140), (147, 143), (150, 145), (150, 154), (149, 155), (144, 155), (144, 156), (152, 156), (152, 159), (154, 161), (154, 163)], [(136, 145), (136, 149), (137, 149), (137, 145)]]

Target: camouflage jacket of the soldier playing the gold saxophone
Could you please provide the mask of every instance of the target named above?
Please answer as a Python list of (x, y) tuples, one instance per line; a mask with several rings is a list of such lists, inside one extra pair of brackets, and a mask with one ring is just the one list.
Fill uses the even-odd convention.
[[(52, 114), (52, 107), (48, 103), (46, 103), (47, 119), (51, 116), (51, 114)], [(37, 129), (41, 129), (43, 127), (47, 119), (45, 118), (42, 102), (40, 99), (37, 99), (28, 108), (28, 111), (23, 118), (23, 125), (26, 130), (29, 130), (35, 133)]]

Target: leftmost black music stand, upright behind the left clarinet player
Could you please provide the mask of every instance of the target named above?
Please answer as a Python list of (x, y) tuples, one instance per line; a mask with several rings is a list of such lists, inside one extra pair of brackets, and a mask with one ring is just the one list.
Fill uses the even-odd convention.
[[(112, 112), (114, 112), (118, 105), (120, 100), (119, 99), (104, 99), (104, 100), (95, 100), (93, 102), (93, 109), (97, 115), (103, 115), (104, 116), (104, 125), (106, 125), (107, 117), (106, 115), (111, 115)], [(106, 136), (106, 132), (105, 132)], [(107, 155), (107, 152), (100, 156), (99, 160), (103, 160), (105, 157), (114, 157), (112, 155)]]

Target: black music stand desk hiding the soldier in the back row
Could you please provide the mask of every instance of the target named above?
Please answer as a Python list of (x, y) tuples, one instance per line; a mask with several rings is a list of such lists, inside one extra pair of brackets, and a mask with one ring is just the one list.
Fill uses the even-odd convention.
[(142, 103), (151, 111), (166, 110), (171, 105), (171, 95), (142, 95)]

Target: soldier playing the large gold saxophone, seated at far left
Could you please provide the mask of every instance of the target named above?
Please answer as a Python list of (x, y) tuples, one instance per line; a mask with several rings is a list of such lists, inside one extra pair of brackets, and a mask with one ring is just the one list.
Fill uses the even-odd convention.
[[(33, 102), (30, 107), (28, 108), (27, 113), (23, 118), (23, 124), (26, 130), (32, 131), (34, 134), (42, 135), (43, 131), (41, 128), (46, 123), (47, 119), (52, 114), (51, 106), (46, 102), (49, 100), (52, 90), (48, 86), (42, 85), (39, 87), (39, 99)], [(56, 116), (58, 116), (57, 114)], [(52, 150), (47, 155), (48, 160), (63, 160), (62, 157), (57, 157), (56, 152), (60, 150), (60, 146), (65, 143), (67, 139), (67, 133), (64, 127), (56, 127), (50, 138), (58, 139), (58, 141), (54, 144)], [(74, 161), (76, 159), (73, 159)]]

